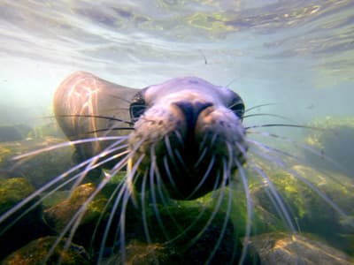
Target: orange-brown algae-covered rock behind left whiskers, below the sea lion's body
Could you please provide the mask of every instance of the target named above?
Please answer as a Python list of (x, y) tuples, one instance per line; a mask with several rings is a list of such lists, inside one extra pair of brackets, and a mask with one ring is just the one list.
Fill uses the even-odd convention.
[[(59, 233), (65, 229), (67, 223), (72, 222), (75, 218), (77, 227), (73, 235), (73, 242), (99, 249), (108, 218), (112, 215), (114, 217), (112, 222), (118, 223), (120, 208), (112, 212), (114, 200), (111, 200), (111, 197), (117, 188), (114, 181), (104, 186), (98, 193), (96, 193), (96, 188), (97, 186), (92, 183), (77, 186), (64, 201), (45, 209), (44, 219), (53, 230)], [(130, 209), (134, 210), (133, 207), (129, 207), (127, 212)], [(127, 219), (130, 216), (133, 215), (127, 214)], [(133, 221), (127, 223), (134, 224)], [(114, 238), (117, 226), (114, 226), (112, 230), (111, 238)], [(93, 251), (97, 251), (97, 249)]]

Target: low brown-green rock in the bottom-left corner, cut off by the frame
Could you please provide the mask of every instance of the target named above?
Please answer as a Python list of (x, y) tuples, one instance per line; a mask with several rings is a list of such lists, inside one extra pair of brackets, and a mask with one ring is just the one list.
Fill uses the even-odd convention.
[[(36, 239), (7, 256), (3, 265), (34, 265), (34, 264), (91, 264), (89, 254), (82, 246), (68, 244), (62, 239), (53, 250), (57, 237)], [(51, 252), (51, 254), (50, 254)], [(50, 255), (49, 255), (50, 254)]]

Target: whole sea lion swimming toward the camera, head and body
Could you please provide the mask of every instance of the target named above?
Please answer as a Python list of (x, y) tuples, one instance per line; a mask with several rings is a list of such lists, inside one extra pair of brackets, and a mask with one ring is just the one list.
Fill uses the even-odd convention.
[[(242, 98), (204, 79), (139, 90), (75, 72), (58, 87), (53, 105), (69, 140), (127, 135), (127, 170), (139, 191), (149, 177), (150, 187), (162, 185), (169, 198), (193, 200), (227, 186), (245, 161)], [(110, 144), (92, 141), (77, 149), (88, 159), (112, 150)]]

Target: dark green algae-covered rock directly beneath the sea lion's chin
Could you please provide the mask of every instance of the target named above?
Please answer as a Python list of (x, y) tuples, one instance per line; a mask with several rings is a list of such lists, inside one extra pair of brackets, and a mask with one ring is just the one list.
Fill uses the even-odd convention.
[[(143, 217), (140, 223), (135, 222), (135, 239), (150, 246), (164, 246), (164, 254), (175, 257), (172, 261), (177, 264), (231, 264), (240, 259), (242, 244), (237, 228), (225, 208), (213, 205), (211, 195), (194, 201), (168, 202), (150, 201), (150, 195), (146, 194), (145, 205), (140, 206)], [(127, 232), (133, 235), (134, 231)], [(254, 257), (257, 259), (256, 254)], [(248, 255), (246, 260), (252, 258)]]

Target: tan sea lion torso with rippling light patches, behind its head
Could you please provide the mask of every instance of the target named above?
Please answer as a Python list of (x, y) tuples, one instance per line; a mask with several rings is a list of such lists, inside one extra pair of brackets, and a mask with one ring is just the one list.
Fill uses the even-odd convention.
[[(130, 126), (129, 104), (137, 91), (99, 79), (89, 72), (74, 72), (59, 85), (54, 95), (58, 125), (69, 140), (126, 135), (127, 130), (114, 128)], [(105, 130), (109, 128), (112, 130)], [(77, 149), (82, 158), (88, 159), (106, 146), (107, 142), (92, 141), (78, 145)]]

